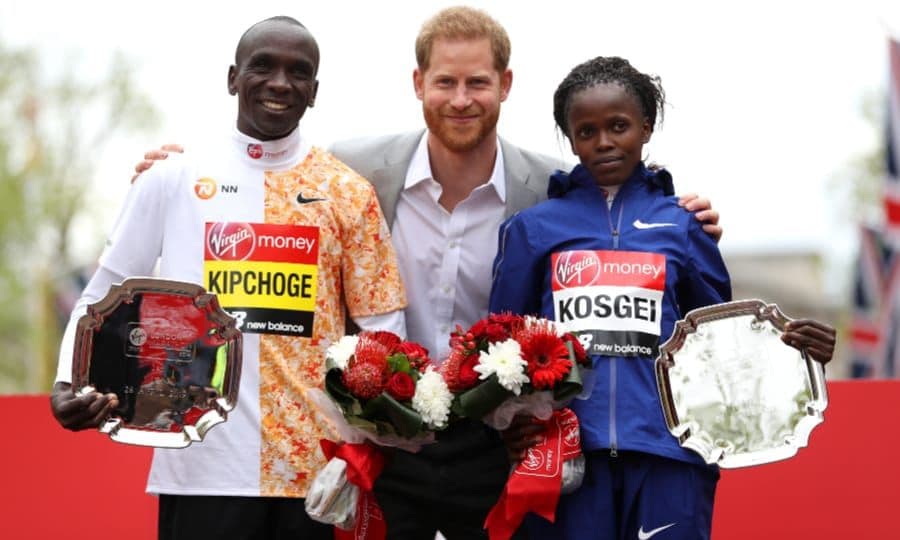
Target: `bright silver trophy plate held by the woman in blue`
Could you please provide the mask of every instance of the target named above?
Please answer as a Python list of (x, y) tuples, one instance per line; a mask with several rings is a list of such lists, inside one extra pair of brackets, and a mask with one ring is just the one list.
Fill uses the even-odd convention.
[(656, 379), (669, 431), (710, 464), (747, 467), (807, 445), (828, 406), (825, 371), (781, 341), (775, 304), (695, 309), (661, 347)]

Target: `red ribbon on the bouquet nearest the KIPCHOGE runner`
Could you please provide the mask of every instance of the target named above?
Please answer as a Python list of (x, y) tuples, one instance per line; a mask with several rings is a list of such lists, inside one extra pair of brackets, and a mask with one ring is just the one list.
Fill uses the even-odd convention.
[(384, 454), (367, 442), (350, 444), (322, 439), (319, 445), (327, 459), (339, 457), (347, 462), (347, 480), (359, 487), (356, 524), (350, 531), (335, 527), (335, 540), (384, 540), (387, 536), (387, 523), (372, 493), (375, 479), (384, 469)]

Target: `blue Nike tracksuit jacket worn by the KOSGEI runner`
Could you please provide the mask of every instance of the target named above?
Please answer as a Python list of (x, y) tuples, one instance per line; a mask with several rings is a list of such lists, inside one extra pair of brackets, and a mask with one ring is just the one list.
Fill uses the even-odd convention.
[[(554, 278), (554, 254), (559, 257), (566, 252), (599, 253), (610, 260), (616, 260), (617, 252), (637, 252), (664, 260), (665, 280), (659, 284), (662, 299), (655, 311), (650, 308), (657, 297), (643, 298), (639, 296), (642, 293), (631, 297), (626, 292), (621, 303), (625, 315), (643, 313), (644, 319), (658, 325), (657, 335), (651, 336), (657, 347), (671, 335), (675, 321), (691, 309), (731, 300), (728, 271), (719, 249), (694, 216), (678, 206), (667, 171), (651, 171), (639, 164), (616, 193), (611, 208), (581, 165), (571, 173), (554, 174), (548, 193), (549, 200), (517, 213), (500, 228), (491, 312), (556, 318), (560, 313), (571, 316), (576, 307), (585, 308), (590, 301), (592, 314), (588, 316), (614, 317), (619, 306), (614, 309), (606, 292), (619, 290), (615, 288), (581, 298), (581, 304), (573, 304), (571, 299), (563, 302), (559, 297), (554, 304), (553, 280), (559, 280), (560, 274), (573, 274), (559, 272)], [(584, 274), (588, 264), (572, 267)], [(633, 337), (627, 330), (605, 335), (624, 342)], [(647, 334), (634, 335), (647, 343)], [(646, 353), (647, 348), (627, 356), (591, 353), (596, 386), (588, 399), (571, 405), (581, 423), (582, 448), (610, 450), (613, 455), (639, 451), (703, 463), (668, 432), (654, 374), (656, 348), (652, 354)]]

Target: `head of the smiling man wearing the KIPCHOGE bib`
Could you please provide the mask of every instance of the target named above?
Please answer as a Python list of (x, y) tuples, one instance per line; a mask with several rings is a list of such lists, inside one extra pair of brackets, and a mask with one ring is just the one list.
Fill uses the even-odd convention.
[(228, 91), (238, 96), (238, 130), (262, 141), (288, 135), (315, 101), (315, 39), (302, 26), (265, 21), (241, 39), (235, 62)]

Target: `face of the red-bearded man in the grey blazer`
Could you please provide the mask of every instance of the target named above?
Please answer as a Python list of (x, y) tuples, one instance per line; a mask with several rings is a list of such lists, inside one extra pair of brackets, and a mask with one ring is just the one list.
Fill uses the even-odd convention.
[(497, 136), (500, 103), (512, 72), (494, 67), (488, 38), (434, 41), (428, 67), (413, 74), (429, 131), (453, 152), (466, 152)]

